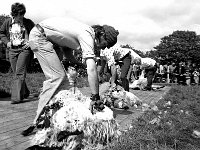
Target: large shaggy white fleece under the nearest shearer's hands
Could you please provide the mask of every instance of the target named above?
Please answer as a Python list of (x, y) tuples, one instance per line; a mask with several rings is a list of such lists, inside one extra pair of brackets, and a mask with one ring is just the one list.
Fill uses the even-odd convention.
[[(49, 103), (61, 106), (50, 116), (50, 127), (37, 131), (32, 139), (33, 145), (42, 147), (60, 147), (66, 150), (99, 149), (105, 147), (120, 135), (119, 125), (113, 117), (113, 111), (106, 107), (101, 112), (92, 114), (89, 110), (90, 98), (83, 95), (78, 89), (62, 90)], [(51, 108), (51, 107), (50, 107)], [(61, 131), (73, 133), (83, 131), (83, 134), (70, 135), (58, 141)], [(101, 145), (101, 146), (100, 146)]]

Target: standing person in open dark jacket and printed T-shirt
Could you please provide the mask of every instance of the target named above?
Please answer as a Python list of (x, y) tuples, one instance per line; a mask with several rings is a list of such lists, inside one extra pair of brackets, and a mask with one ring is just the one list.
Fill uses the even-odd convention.
[(11, 6), (11, 18), (4, 21), (0, 28), (0, 39), (9, 50), (9, 61), (14, 81), (11, 88), (11, 104), (18, 104), (27, 98), (30, 91), (25, 78), (32, 51), (29, 46), (29, 33), (34, 27), (34, 22), (24, 17), (26, 7), (22, 3)]

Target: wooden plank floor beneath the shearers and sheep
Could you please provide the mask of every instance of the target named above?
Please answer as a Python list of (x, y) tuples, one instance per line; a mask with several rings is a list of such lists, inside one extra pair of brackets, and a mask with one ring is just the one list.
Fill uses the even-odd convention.
[[(162, 95), (169, 90), (169, 87), (159, 91), (131, 90), (136, 96), (146, 103), (158, 101)], [(87, 95), (88, 88), (81, 91)], [(21, 131), (26, 129), (36, 115), (38, 99), (29, 98), (24, 103), (11, 105), (10, 98), (0, 98), (0, 150), (24, 150), (30, 146), (32, 136), (23, 137)], [(138, 117), (141, 111), (131, 108), (127, 111), (115, 110), (116, 120), (121, 128), (126, 128), (132, 119)]]

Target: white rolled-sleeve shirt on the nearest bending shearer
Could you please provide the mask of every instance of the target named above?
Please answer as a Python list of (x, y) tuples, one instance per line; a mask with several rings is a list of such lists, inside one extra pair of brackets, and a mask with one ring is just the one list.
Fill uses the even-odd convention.
[(95, 57), (95, 33), (91, 26), (66, 17), (49, 18), (39, 23), (51, 42), (74, 50), (82, 50), (83, 59)]

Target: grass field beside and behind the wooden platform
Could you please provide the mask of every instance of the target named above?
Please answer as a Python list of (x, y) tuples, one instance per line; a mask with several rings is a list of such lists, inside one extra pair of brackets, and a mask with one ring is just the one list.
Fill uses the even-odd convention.
[[(42, 73), (27, 74), (31, 92), (42, 87)], [(10, 92), (12, 77), (0, 74), (0, 94)], [(86, 78), (78, 78), (78, 87), (88, 86)], [(200, 131), (200, 87), (173, 85), (156, 104), (132, 122), (131, 128), (110, 145), (113, 150), (199, 150), (200, 139), (192, 136)]]

